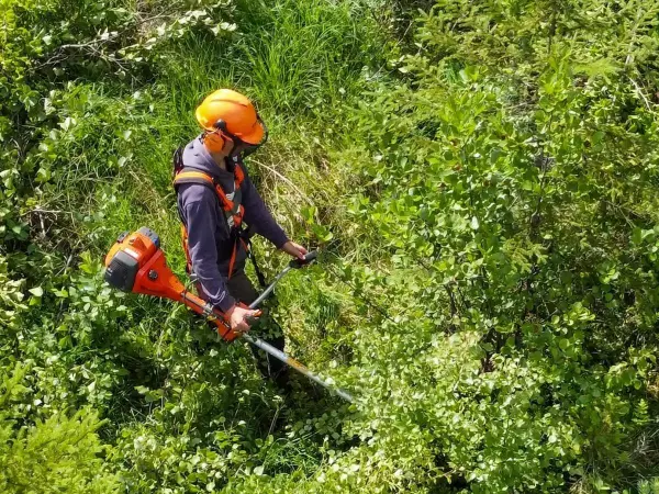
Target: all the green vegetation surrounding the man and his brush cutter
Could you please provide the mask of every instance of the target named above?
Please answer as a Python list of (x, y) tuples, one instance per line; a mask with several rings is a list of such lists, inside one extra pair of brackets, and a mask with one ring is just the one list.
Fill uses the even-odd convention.
[[(3, 492), (657, 491), (659, 3), (0, 12)], [(282, 398), (102, 281), (142, 225), (182, 274), (170, 155), (220, 86), (270, 124), (275, 216), (323, 247), (278, 288), (288, 348), (356, 405)]]

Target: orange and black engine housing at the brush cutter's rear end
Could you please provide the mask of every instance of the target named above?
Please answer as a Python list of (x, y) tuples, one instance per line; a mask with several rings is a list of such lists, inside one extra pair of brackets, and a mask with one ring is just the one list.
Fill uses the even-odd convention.
[(124, 292), (181, 302), (186, 288), (171, 272), (150, 228), (123, 233), (105, 256), (105, 281)]

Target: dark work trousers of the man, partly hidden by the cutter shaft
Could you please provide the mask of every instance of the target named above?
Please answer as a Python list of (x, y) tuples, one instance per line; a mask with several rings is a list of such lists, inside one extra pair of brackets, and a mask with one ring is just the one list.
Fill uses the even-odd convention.
[[(227, 288), (231, 296), (243, 302), (245, 305), (249, 305), (258, 297), (258, 292), (243, 269), (232, 274), (231, 279), (227, 281)], [(267, 308), (263, 308), (263, 316), (252, 326), (249, 333), (283, 351), (284, 339), (281, 327), (270, 316)], [(280, 388), (288, 388), (288, 366), (254, 345), (249, 346), (252, 347), (252, 352), (256, 357), (256, 363), (260, 373), (266, 378), (275, 380)]]

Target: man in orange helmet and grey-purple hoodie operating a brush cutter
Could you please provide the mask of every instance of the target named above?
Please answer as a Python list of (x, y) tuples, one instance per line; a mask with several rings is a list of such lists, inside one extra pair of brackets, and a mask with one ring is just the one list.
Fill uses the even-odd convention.
[[(252, 102), (236, 91), (220, 89), (203, 100), (196, 115), (202, 134), (175, 154), (177, 205), (188, 270), (199, 295), (225, 314), (232, 329), (225, 339), (231, 340), (247, 332), (246, 318), (257, 314), (246, 306), (258, 293), (245, 274), (248, 237), (243, 222), (249, 225), (249, 234), (261, 235), (295, 258), (303, 259), (306, 249), (289, 240), (272, 218), (243, 164), (243, 157), (268, 137)], [(281, 328), (272, 321), (268, 326), (264, 339), (283, 350)], [(261, 373), (286, 386), (286, 366), (254, 351)]]

